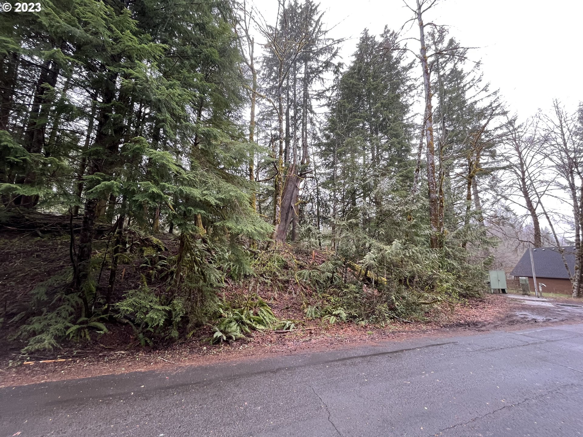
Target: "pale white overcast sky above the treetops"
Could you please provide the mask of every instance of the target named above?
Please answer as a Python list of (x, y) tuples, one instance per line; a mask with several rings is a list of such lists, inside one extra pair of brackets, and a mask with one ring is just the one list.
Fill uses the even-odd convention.
[[(275, 22), (276, 0), (252, 2)], [(374, 34), (385, 24), (398, 30), (411, 16), (402, 0), (321, 0), (320, 5), (328, 27), (335, 26), (331, 36), (349, 38), (340, 52), (346, 63), (364, 28)], [(459, 43), (479, 47), (470, 58), (482, 60), (486, 81), (524, 119), (539, 108), (548, 110), (553, 98), (570, 109), (583, 99), (582, 17), (583, 0), (441, 0), (426, 22), (448, 24)], [(417, 34), (412, 29), (410, 36)]]

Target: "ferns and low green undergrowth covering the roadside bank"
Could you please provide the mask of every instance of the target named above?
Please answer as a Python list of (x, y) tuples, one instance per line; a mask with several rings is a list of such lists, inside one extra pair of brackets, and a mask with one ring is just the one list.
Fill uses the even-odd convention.
[[(480, 270), (466, 269), (463, 276), (452, 268), (455, 251), (421, 251), (406, 241), (371, 245), (360, 259), (342, 248), (230, 249), (196, 233), (181, 234), (178, 251), (163, 255), (164, 245), (152, 241), (147, 250), (124, 254), (124, 262), (137, 267), (139, 284), (109, 305), (97, 287), (99, 266), (111, 263), (107, 251), (98, 251), (93, 275), (80, 292), (72, 291), (70, 269), (37, 284), (29, 307), (10, 320), (20, 325), (12, 339), (27, 341), (22, 353), (59, 348), (67, 340), (90, 341), (115, 323), (130, 325), (136, 343), (150, 347), (193, 336), (214, 344), (265, 330), (294, 330), (304, 322), (279, 320), (269, 305), (278, 293), (298, 294), (304, 319), (324, 326), (423, 321), (436, 305), (479, 294), (472, 281), (479, 283)], [(201, 337), (205, 332), (210, 337)]]

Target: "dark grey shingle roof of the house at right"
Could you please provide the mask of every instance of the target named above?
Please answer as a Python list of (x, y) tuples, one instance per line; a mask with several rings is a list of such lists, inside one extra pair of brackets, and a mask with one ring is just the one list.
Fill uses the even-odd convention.
[[(565, 258), (571, 274), (575, 270), (575, 254), (573, 246), (565, 246)], [(532, 259), (535, 262), (535, 273), (541, 278), (559, 278), (569, 279), (569, 274), (563, 263), (561, 252), (557, 248), (536, 248), (532, 249)], [(514, 270), (510, 273), (512, 276), (532, 276), (531, 255), (528, 249), (522, 255)]]

